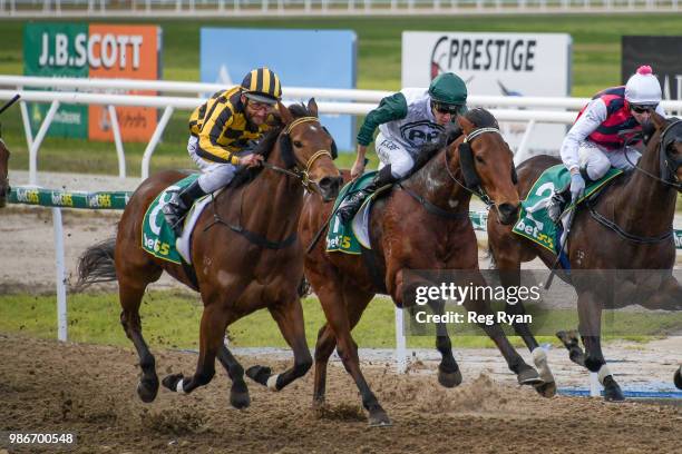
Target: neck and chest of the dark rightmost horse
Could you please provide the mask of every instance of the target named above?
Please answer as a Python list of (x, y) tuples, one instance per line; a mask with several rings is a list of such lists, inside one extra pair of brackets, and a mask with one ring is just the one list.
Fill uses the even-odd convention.
[[(637, 167), (660, 178), (659, 152), (659, 147), (656, 150), (644, 150)], [(676, 194), (670, 186), (634, 170), (622, 190), (617, 191), (616, 220), (630, 231), (645, 236), (660, 235), (664, 228), (672, 226)]]

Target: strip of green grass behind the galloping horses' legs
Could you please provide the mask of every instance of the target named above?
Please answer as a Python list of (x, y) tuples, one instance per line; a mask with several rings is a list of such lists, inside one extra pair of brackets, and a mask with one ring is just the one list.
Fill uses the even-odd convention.
[[(314, 346), (318, 329), (324, 324), (316, 298), (303, 300), (305, 333), (309, 346)], [(119, 324), (120, 307), (116, 294), (76, 294), (68, 299), (68, 336), (74, 342), (130, 346)], [(202, 305), (197, 296), (182, 292), (149, 292), (140, 308), (144, 335), (154, 347), (197, 348)], [(554, 310), (534, 314), (545, 317), (543, 334), (577, 325), (575, 310)], [(539, 318), (535, 318), (538, 320)], [(647, 340), (660, 335), (680, 332), (682, 314), (605, 313), (604, 319), (613, 334), (605, 339), (625, 338)], [(57, 337), (56, 297), (52, 295), (0, 296), (0, 333), (23, 333), (31, 336)], [(477, 328), (476, 328), (477, 329)], [(286, 347), (276, 324), (267, 310), (259, 310), (232, 325), (230, 337), (235, 346)], [(386, 297), (374, 298), (353, 330), (360, 347), (392, 348), (396, 338), (393, 304)], [(523, 347), (518, 337), (513, 344)], [(540, 343), (559, 346), (551, 335), (538, 336)], [(455, 348), (494, 347), (480, 332), (478, 335), (454, 336)], [(432, 348), (431, 335), (409, 336), (409, 347)]]

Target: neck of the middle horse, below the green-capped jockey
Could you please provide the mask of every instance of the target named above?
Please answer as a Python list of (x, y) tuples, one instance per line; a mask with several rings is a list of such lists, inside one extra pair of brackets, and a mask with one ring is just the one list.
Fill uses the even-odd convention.
[(452, 213), (468, 211), (469, 201), (471, 200), (471, 194), (464, 190), (464, 188), (452, 179), (447, 169), (446, 157), (447, 162), (457, 165), (452, 175), (459, 178), (459, 157), (452, 151), (457, 149), (456, 144), (458, 142), (440, 149), (436, 156), (429, 159), (429, 161), (406, 182), (407, 187), (431, 204)]

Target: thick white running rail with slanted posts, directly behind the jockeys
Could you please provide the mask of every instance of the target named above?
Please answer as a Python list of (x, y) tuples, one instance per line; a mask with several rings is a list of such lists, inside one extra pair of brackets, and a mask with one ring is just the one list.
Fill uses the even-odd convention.
[[(101, 105), (107, 107), (113, 124), (116, 151), (118, 156), (119, 176), (126, 176), (124, 145), (118, 128), (115, 106), (139, 106), (164, 109), (152, 139), (147, 144), (142, 161), (142, 178), (149, 176), (149, 162), (152, 155), (158, 145), (163, 132), (175, 109), (193, 110), (205, 101), (205, 97), (197, 93), (211, 93), (225, 88), (215, 83), (197, 82), (172, 82), (152, 80), (116, 80), (116, 79), (59, 79), (0, 76), (0, 87), (12, 87), (14, 89), (0, 89), (0, 99), (10, 99), (17, 92), (21, 95), (21, 116), (26, 139), (29, 148), (29, 180), (31, 185), (38, 184), (38, 152), (42, 140), (55, 118), (55, 114), (61, 103)], [(81, 91), (38, 91), (23, 90), (23, 87), (50, 88), (56, 90), (79, 89)], [(98, 92), (84, 92), (98, 91)], [(159, 92), (192, 93), (192, 97), (169, 96), (138, 96), (138, 95), (113, 95), (126, 90), (153, 90)], [(104, 91), (104, 93), (103, 93)], [(349, 89), (321, 89), (321, 88), (288, 88), (285, 97), (308, 98), (318, 97), (321, 114), (341, 115), (366, 115), (377, 106), (377, 102), (388, 95), (379, 90), (349, 90)], [(324, 100), (328, 99), (328, 100)], [(333, 99), (333, 100), (329, 100)], [(50, 108), (42, 121), (36, 137), (31, 135), (27, 101), (50, 102)], [(363, 101), (363, 102), (357, 102)], [(470, 96), (470, 106), (493, 107), (490, 111), (500, 121), (526, 121), (526, 130), (517, 147), (515, 161), (520, 162), (527, 157), (526, 145), (537, 124), (564, 124), (569, 125), (575, 120), (575, 109), (587, 102), (585, 98), (539, 98), (539, 97), (493, 97)], [(664, 101), (663, 108), (682, 110), (682, 101)], [(504, 107), (499, 109), (497, 107)], [(539, 110), (537, 108), (554, 109)], [(524, 108), (522, 110), (520, 108)], [(533, 109), (534, 108), (534, 109)], [(574, 109), (566, 111), (563, 109)]]

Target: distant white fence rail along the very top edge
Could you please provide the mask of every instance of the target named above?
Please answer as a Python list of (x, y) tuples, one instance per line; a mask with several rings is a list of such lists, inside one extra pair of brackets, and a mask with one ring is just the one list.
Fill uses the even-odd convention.
[(0, 18), (509, 14), (679, 11), (678, 0), (0, 0)]

